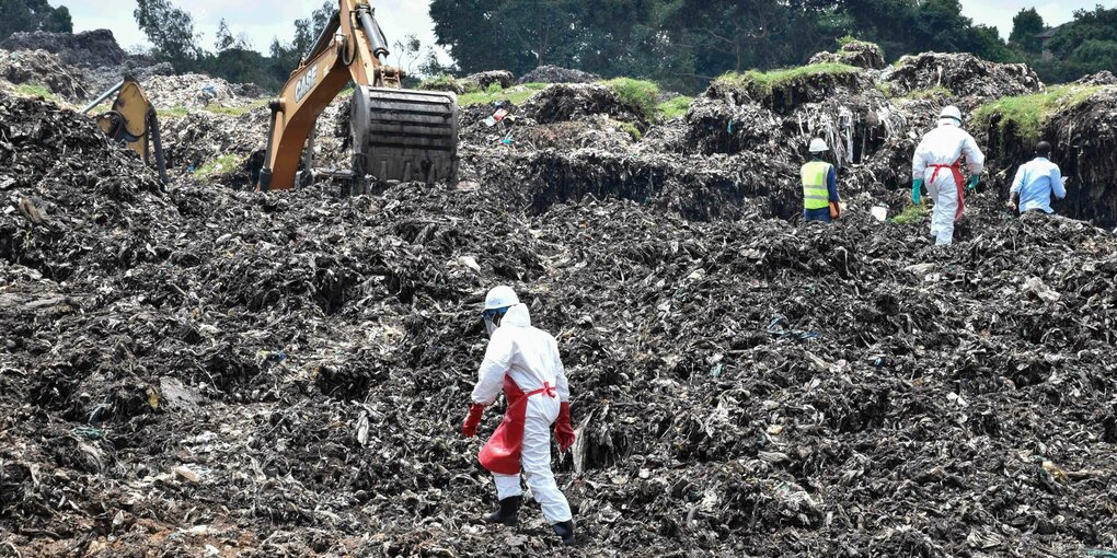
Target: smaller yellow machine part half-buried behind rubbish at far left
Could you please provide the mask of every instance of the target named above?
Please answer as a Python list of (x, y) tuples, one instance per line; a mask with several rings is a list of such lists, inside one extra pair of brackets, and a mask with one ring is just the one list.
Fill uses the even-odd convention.
[(121, 83), (83, 108), (82, 114), (89, 114), (113, 95), (116, 95), (113, 107), (107, 113), (95, 116), (94, 121), (108, 137), (123, 142), (139, 153), (145, 164), (150, 165), (154, 155), (159, 177), (166, 184), (166, 160), (163, 157), (163, 143), (159, 136), (159, 118), (155, 117), (155, 107), (147, 100), (135, 78), (125, 76)]

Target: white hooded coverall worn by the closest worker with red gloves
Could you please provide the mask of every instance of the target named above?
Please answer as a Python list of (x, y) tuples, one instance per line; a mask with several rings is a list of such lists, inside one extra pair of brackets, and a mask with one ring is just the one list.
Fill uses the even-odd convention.
[[(527, 397), (521, 473), (532, 489), (533, 498), (543, 508), (547, 522), (569, 521), (572, 519), (570, 503), (551, 472), (551, 425), (558, 417), (560, 403), (570, 401), (570, 385), (558, 358), (558, 344), (551, 334), (532, 327), (532, 317), (522, 304), (508, 309), (500, 327), (489, 339), (478, 371), (477, 386), (474, 387), (474, 403), (490, 405), (495, 402), (504, 388), (506, 376), (525, 394), (544, 392)], [(523, 493), (519, 477), (493, 473), (500, 500)]]

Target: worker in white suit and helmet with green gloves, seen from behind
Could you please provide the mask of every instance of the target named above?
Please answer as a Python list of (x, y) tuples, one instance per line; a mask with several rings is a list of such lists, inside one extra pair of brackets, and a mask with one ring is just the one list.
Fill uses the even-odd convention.
[(954, 241), (954, 223), (965, 210), (962, 160), (970, 171), (968, 190), (977, 187), (978, 175), (985, 169), (985, 155), (966, 131), (962, 129), (962, 112), (948, 106), (938, 118), (938, 127), (923, 136), (911, 157), (911, 201), (919, 203), (922, 189), (935, 202), (930, 217), (930, 235), (935, 244)]

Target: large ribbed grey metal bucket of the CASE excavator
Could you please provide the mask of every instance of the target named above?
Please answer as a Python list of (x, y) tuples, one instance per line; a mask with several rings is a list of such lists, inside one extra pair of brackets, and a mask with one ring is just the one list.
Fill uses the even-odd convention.
[(458, 99), (452, 93), (357, 86), (350, 118), (354, 179), (457, 180)]

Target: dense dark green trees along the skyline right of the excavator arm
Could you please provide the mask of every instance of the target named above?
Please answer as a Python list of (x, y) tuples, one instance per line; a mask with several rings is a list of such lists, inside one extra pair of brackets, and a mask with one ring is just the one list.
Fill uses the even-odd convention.
[(1078, 12), (1046, 45), (1034, 9), (1003, 40), (963, 16), (958, 0), (432, 0), (430, 16), (454, 71), (523, 75), (554, 64), (680, 90), (726, 71), (802, 65), (847, 36), (878, 44), (889, 60), (965, 51), (1032, 64), (1052, 83), (1117, 67), (1117, 9), (1101, 7)]

